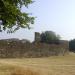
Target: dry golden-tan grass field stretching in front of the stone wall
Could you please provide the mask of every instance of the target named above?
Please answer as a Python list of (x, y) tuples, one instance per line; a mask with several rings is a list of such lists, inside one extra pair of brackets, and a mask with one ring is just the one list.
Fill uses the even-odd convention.
[(75, 54), (47, 58), (0, 59), (0, 75), (75, 75)]

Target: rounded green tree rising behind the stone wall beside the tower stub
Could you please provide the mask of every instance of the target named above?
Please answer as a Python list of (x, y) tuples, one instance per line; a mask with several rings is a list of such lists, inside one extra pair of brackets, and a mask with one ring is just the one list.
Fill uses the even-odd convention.
[(59, 39), (59, 35), (56, 35), (53, 31), (46, 31), (41, 34), (41, 42), (43, 43), (58, 44)]

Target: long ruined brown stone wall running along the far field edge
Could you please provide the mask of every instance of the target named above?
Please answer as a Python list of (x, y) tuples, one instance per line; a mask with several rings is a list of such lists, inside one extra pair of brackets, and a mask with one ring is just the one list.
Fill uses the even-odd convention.
[(0, 58), (48, 57), (68, 53), (68, 42), (59, 45), (40, 42), (0, 41)]

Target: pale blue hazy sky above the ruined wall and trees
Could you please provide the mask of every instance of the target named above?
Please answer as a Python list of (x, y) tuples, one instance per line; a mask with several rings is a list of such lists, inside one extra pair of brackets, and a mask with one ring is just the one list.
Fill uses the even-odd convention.
[(31, 29), (20, 29), (12, 34), (0, 32), (0, 39), (19, 38), (34, 40), (34, 32), (54, 31), (61, 39), (75, 38), (75, 0), (34, 0), (22, 12), (32, 13), (35, 18)]

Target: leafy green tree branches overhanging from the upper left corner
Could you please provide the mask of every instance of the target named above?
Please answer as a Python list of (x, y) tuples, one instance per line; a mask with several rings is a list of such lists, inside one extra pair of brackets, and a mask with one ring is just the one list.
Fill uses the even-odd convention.
[(0, 0), (0, 31), (8, 29), (10, 32), (19, 28), (30, 28), (34, 17), (21, 11), (22, 6), (28, 8), (32, 0)]

